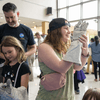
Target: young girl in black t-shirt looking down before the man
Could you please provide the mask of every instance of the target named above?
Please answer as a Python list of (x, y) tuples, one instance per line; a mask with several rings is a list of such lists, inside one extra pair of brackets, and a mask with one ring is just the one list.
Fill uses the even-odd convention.
[[(3, 82), (5, 83), (10, 78), (12, 86), (16, 88), (24, 86), (27, 88), (30, 70), (24, 62), (26, 61), (26, 56), (20, 41), (15, 37), (6, 36), (1, 43), (0, 50), (5, 56), (5, 64), (2, 71)], [(16, 78), (18, 68), (19, 72)]]

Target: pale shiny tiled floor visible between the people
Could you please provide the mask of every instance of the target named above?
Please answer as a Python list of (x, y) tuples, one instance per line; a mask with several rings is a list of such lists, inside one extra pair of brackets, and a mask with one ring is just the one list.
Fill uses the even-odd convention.
[[(40, 72), (39, 72), (39, 67), (38, 67), (37, 61), (36, 61), (35, 66), (37, 66), (37, 67), (33, 68), (34, 81), (29, 82), (29, 100), (35, 100), (38, 89), (39, 89), (40, 79), (37, 78), (36, 76), (39, 75)], [(85, 68), (86, 68), (86, 66), (85, 66)], [(91, 66), (90, 66), (90, 68), (91, 68)], [(90, 69), (90, 71), (91, 71), (91, 69)], [(80, 94), (75, 95), (75, 100), (82, 100), (82, 97), (88, 88), (100, 88), (100, 81), (95, 82), (94, 74), (88, 74), (88, 75), (86, 75), (85, 83), (83, 83), (83, 84), (80, 83), (79, 87), (80, 87)]]

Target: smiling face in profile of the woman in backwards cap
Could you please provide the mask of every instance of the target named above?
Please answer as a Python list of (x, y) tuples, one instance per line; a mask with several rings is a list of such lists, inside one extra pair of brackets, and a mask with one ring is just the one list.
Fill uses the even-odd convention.
[(61, 34), (62, 34), (62, 40), (67, 43), (67, 41), (70, 39), (71, 32), (69, 30), (69, 26), (62, 26), (61, 27)]

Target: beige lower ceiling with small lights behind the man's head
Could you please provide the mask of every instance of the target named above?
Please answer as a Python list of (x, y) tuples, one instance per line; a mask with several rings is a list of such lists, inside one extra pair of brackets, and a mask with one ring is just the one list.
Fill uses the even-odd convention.
[[(26, 26), (28, 26), (30, 28), (34, 28), (34, 26), (36, 26), (36, 27), (42, 26), (41, 20), (36, 20), (36, 19), (32, 19), (32, 18), (19, 17), (19, 22), (21, 24), (25, 24)], [(0, 25), (2, 25), (4, 23), (6, 23), (5, 17), (2, 13), (0, 13)]]

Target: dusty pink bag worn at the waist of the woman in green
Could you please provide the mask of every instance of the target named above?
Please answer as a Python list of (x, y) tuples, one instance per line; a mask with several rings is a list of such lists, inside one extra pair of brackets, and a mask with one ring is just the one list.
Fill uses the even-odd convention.
[(65, 86), (66, 75), (61, 73), (46, 74), (41, 77), (40, 83), (47, 91), (58, 90)]

